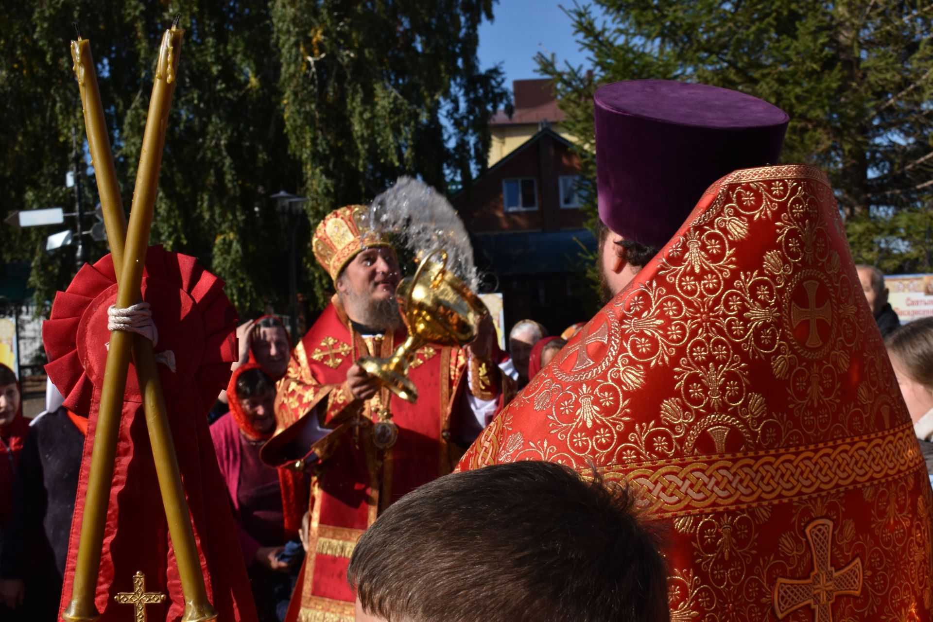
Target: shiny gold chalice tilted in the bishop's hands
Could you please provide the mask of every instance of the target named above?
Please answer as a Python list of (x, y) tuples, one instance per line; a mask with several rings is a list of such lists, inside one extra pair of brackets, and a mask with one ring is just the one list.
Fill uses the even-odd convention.
[[(434, 257), (440, 256), (440, 261)], [(425, 256), (411, 278), (398, 283), (398, 309), (409, 337), (388, 358), (366, 356), (359, 366), (382, 380), (392, 393), (414, 403), (418, 389), (408, 377), (415, 353), (425, 343), (464, 346), (476, 338), (482, 317), (488, 313), (480, 297), (447, 270), (447, 251)]]

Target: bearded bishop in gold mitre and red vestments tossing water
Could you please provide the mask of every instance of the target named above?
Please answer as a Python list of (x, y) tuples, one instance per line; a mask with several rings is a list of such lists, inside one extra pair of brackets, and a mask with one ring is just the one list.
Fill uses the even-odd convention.
[(363, 356), (388, 357), (407, 337), (395, 300), (400, 269), (389, 231), (367, 208), (327, 214), (314, 256), (337, 293), (292, 352), (275, 399), (268, 463), (312, 470), (309, 550), (286, 620), (354, 619), (346, 571), (356, 541), (388, 505), (450, 473), (502, 406), (492, 362), (492, 322), (464, 348), (426, 344), (411, 362), (412, 404), (362, 372)]

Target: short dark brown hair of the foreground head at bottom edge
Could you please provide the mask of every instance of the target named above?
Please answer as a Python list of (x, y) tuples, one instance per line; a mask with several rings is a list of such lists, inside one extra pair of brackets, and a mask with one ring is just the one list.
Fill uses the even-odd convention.
[(410, 492), (363, 534), (347, 578), (363, 610), (389, 622), (670, 619), (658, 540), (631, 491), (555, 463)]

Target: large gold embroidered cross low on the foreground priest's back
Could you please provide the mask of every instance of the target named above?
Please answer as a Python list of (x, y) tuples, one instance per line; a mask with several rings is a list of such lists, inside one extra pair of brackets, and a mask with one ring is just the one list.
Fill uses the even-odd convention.
[(862, 560), (855, 560), (836, 572), (829, 559), (832, 548), (832, 521), (816, 518), (803, 530), (810, 541), (814, 569), (807, 579), (781, 577), (774, 584), (774, 614), (784, 617), (803, 605), (814, 611), (814, 622), (832, 622), (832, 603), (837, 596), (858, 596), (862, 593)]

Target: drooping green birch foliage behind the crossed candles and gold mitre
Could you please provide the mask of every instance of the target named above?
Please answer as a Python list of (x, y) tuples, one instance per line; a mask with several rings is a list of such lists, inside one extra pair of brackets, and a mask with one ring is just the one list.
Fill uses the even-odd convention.
[[(151, 243), (198, 256), (244, 314), (284, 309), (291, 228), (299, 227), (309, 269), (307, 242), (328, 210), (371, 199), (400, 173), (444, 187), (458, 176), (468, 183), (484, 164), (486, 115), (507, 98), (500, 72), (476, 61), (477, 29), (493, 2), (6, 3), (0, 218), (74, 204), (64, 188), (72, 131), (85, 143), (72, 21), (91, 40), (129, 211), (160, 36), (180, 12), (186, 34)], [(269, 199), (280, 189), (306, 193), (311, 222), (280, 219)], [(73, 250), (45, 251), (55, 230), (0, 226), (3, 260), (32, 261), (40, 304), (75, 270)], [(91, 244), (91, 261), (104, 253), (105, 244)], [(312, 303), (322, 306), (322, 280), (299, 274), (299, 291), (316, 287)]]

